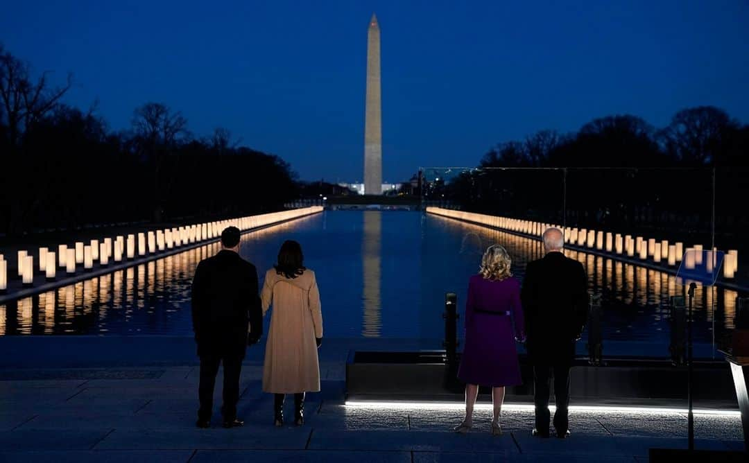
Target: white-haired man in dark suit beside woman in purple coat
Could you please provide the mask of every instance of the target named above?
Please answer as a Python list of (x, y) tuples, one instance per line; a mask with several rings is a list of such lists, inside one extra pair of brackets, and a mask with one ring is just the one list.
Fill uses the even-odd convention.
[(558, 228), (544, 232), (545, 257), (528, 264), (521, 299), (525, 315), (528, 358), (533, 365), (536, 429), (549, 437), (549, 390), (554, 375), (557, 437), (569, 435), (569, 370), (574, 343), (585, 328), (588, 280), (582, 264), (563, 254), (564, 237)]

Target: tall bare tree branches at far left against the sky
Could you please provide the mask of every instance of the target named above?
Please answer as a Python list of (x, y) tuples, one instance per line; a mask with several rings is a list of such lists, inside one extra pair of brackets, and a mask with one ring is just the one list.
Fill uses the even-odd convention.
[(28, 126), (49, 114), (73, 85), (73, 76), (68, 74), (65, 85), (52, 88), (48, 76), (45, 71), (34, 81), (28, 64), (0, 44), (0, 103), (11, 147), (16, 147)]

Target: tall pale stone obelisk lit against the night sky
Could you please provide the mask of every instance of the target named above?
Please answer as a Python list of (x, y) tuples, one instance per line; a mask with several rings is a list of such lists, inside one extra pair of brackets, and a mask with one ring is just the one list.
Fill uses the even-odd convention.
[(364, 110), (364, 194), (382, 194), (380, 26), (372, 14), (367, 32), (367, 99)]

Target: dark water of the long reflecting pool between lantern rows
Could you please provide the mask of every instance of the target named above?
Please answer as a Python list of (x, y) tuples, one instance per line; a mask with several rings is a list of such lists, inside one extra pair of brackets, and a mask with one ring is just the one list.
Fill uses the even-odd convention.
[[(335, 211), (243, 236), (241, 254), (261, 280), (285, 239), (302, 244), (306, 266), (318, 275), (326, 337), (419, 339), (435, 349), (445, 292), (458, 293), (462, 311), (467, 280), (488, 245), (505, 245), (521, 280), (526, 263), (542, 256), (541, 242), (422, 212)], [(0, 334), (190, 335), (192, 273), (218, 250), (204, 245), (0, 305)], [(591, 254), (568, 256), (583, 263), (592, 291), (604, 295), (608, 343), (663, 349), (670, 333), (664, 304), (684, 292), (676, 278)], [(729, 289), (697, 289), (696, 340), (715, 346), (733, 328), (735, 298)]]

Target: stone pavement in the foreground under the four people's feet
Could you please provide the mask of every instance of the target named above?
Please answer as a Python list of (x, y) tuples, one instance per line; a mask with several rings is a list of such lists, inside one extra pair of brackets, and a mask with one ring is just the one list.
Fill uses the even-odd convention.
[[(491, 411), (468, 435), (450, 432), (459, 408), (344, 405), (344, 368), (321, 364), (322, 392), (309, 394), (305, 426), (272, 426), (261, 366), (243, 367), (239, 414), (222, 429), (220, 374), (213, 428), (196, 429), (198, 368), (6, 369), (0, 381), (0, 462), (640, 462), (649, 447), (685, 447), (683, 414), (571, 414), (565, 441), (530, 436), (530, 411), (505, 411), (504, 435), (489, 435)], [(291, 400), (287, 402), (291, 415)], [(739, 417), (697, 416), (697, 447), (741, 450)]]

